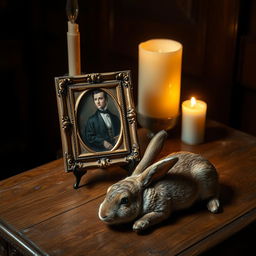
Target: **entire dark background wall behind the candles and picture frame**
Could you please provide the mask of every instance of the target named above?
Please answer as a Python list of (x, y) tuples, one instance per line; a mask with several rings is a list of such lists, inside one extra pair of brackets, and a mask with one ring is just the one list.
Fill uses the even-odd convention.
[[(54, 77), (67, 74), (64, 0), (0, 1), (0, 179), (60, 156)], [(183, 44), (181, 100), (208, 103), (208, 118), (256, 135), (256, 1), (80, 0), (82, 71), (132, 70), (138, 44)]]

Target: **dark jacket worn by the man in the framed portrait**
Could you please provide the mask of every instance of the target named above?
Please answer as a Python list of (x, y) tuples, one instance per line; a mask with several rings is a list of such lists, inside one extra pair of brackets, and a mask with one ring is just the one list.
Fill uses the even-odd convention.
[[(113, 137), (115, 137), (120, 133), (120, 120), (110, 111), (107, 110), (106, 112), (110, 116), (112, 122)], [(103, 118), (101, 117), (100, 111), (97, 110), (94, 115), (89, 117), (85, 127), (86, 144), (95, 151), (106, 151), (107, 149), (103, 146), (103, 141), (106, 140), (112, 144), (112, 146), (114, 146), (115, 140), (113, 137), (109, 136), (108, 128)]]

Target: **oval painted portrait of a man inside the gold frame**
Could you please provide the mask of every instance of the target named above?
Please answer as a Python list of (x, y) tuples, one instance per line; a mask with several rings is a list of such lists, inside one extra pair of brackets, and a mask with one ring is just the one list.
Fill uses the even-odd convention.
[(101, 88), (86, 91), (77, 109), (78, 130), (90, 151), (112, 150), (121, 131), (120, 110), (113, 96)]

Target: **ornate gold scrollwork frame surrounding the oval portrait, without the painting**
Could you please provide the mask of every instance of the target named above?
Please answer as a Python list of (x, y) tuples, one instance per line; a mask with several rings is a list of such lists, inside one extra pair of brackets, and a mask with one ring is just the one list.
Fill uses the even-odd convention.
[[(140, 154), (130, 71), (56, 77), (55, 87), (64, 166), (65, 171), (73, 172), (76, 176), (74, 187), (79, 187), (81, 176), (91, 168), (108, 168), (112, 165), (133, 168)], [(86, 106), (84, 102), (89, 102), (87, 95), (94, 89), (108, 94), (121, 124), (115, 146), (106, 151), (94, 151), (86, 144), (82, 136), (83, 125), (79, 121), (87, 111), (83, 110), (83, 106)]]

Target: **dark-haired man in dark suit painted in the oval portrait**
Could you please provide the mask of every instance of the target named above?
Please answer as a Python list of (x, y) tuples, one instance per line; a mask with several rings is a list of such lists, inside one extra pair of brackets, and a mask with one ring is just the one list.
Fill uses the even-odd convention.
[(96, 112), (85, 127), (86, 144), (95, 151), (111, 150), (120, 133), (119, 118), (108, 110), (108, 95), (101, 89), (92, 91)]

